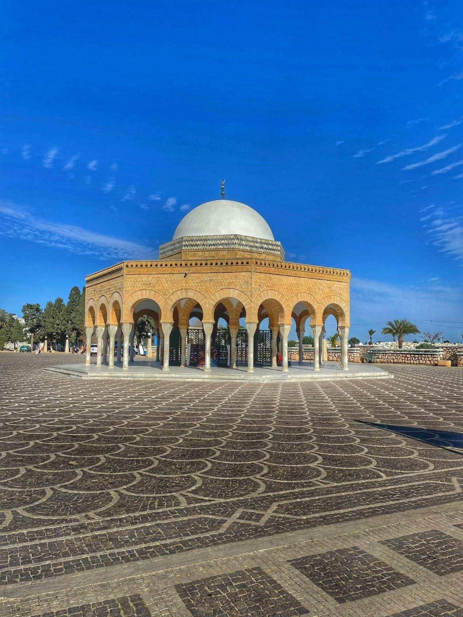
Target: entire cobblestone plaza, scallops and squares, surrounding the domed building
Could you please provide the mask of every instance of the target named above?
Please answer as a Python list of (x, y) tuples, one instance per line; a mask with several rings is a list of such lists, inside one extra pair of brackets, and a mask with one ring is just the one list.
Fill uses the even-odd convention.
[(463, 616), (462, 368), (43, 371), (62, 363), (0, 354), (2, 617)]

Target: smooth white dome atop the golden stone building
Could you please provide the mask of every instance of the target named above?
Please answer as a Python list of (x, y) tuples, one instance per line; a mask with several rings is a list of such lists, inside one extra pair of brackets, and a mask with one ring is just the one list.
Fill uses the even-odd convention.
[(181, 236), (224, 236), (240, 234), (273, 240), (272, 230), (249, 205), (229, 199), (217, 199), (198, 205), (177, 225), (172, 240)]

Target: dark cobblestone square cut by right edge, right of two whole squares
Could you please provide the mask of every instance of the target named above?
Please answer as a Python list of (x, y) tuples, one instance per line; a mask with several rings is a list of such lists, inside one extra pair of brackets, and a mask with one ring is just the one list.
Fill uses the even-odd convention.
[(391, 538), (383, 544), (440, 576), (463, 570), (463, 542), (436, 529)]

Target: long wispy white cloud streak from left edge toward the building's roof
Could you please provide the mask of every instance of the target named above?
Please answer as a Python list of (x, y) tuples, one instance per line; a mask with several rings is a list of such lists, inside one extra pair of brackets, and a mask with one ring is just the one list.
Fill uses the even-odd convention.
[(67, 225), (36, 218), (30, 210), (11, 201), (0, 200), (2, 225), (0, 234), (21, 241), (28, 240), (46, 246), (65, 249), (96, 259), (156, 259), (157, 251), (112, 236), (85, 230), (77, 225)]

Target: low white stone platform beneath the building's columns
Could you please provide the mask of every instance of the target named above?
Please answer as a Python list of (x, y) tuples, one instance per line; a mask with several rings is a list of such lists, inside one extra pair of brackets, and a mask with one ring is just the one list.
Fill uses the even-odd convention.
[(62, 373), (71, 377), (83, 379), (183, 379), (187, 381), (317, 381), (324, 379), (385, 379), (393, 375), (378, 366), (372, 364), (349, 363), (349, 370), (343, 371), (339, 363), (327, 362), (320, 366), (320, 371), (314, 373), (311, 362), (302, 365), (294, 364), (290, 366), (288, 373), (282, 373), (281, 368), (270, 368), (269, 366), (258, 367), (254, 373), (248, 373), (246, 367), (236, 369), (230, 368), (211, 368), (210, 372), (204, 371), (202, 366), (170, 366), (169, 371), (163, 371), (159, 362), (154, 360), (140, 359), (135, 360), (123, 369), (120, 364), (109, 368), (107, 365), (90, 366), (85, 364), (68, 364), (58, 366), (47, 366), (45, 371)]

